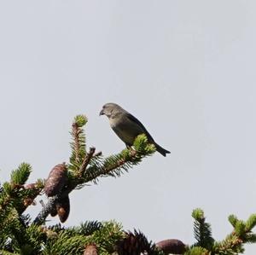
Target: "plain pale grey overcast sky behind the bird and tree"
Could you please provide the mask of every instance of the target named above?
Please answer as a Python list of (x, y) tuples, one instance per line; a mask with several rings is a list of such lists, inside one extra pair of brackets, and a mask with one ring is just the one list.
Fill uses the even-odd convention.
[(113, 101), (172, 154), (74, 191), (65, 225), (116, 219), (192, 244), (201, 207), (223, 239), (231, 213), (256, 212), (255, 11), (249, 0), (0, 1), (1, 182), (23, 161), (30, 183), (67, 161), (79, 113), (88, 146), (122, 150), (98, 116)]

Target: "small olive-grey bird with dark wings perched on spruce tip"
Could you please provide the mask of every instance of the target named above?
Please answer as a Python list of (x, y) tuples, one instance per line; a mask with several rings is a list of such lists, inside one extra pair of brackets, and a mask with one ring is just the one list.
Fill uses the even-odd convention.
[(125, 142), (127, 147), (130, 147), (135, 138), (138, 135), (145, 134), (148, 138), (148, 142), (153, 143), (156, 150), (166, 157), (166, 154), (170, 154), (165, 148), (161, 148), (150, 134), (143, 124), (136, 119), (131, 113), (128, 113), (119, 105), (109, 102), (102, 107), (100, 115), (106, 115), (109, 119), (110, 126), (113, 131), (119, 136), (119, 138)]

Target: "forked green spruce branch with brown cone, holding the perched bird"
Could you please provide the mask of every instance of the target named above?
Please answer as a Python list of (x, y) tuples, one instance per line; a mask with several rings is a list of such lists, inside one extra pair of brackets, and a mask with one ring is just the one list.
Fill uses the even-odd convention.
[[(89, 152), (85, 150), (84, 125), (87, 118), (84, 115), (78, 115), (74, 118), (71, 135), (72, 155), (67, 165), (67, 181), (64, 173), (59, 171), (63, 168), (56, 165), (49, 173), (49, 178), (45, 182), (44, 191), (52, 198), (47, 205), (39, 212), (34, 223), (43, 223), (45, 218), (51, 213), (55, 215), (55, 206), (58, 201), (67, 200), (67, 196), (73, 189), (84, 187), (86, 183), (97, 183), (98, 177), (119, 177), (123, 171), (128, 171), (133, 165), (137, 165), (141, 160), (154, 153), (154, 145), (149, 144), (145, 135), (137, 136), (133, 148), (125, 149), (120, 154), (115, 154), (102, 158), (102, 153), (96, 153), (96, 148), (91, 147)], [(61, 166), (61, 167), (60, 167)], [(66, 205), (69, 203), (65, 203)], [(69, 212), (69, 207), (66, 212)], [(61, 212), (58, 212), (59, 217)]]

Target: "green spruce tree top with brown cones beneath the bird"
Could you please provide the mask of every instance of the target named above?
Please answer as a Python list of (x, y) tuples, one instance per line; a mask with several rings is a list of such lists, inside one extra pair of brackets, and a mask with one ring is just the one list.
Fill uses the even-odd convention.
[[(230, 215), (229, 221), (234, 229), (223, 241), (216, 241), (201, 209), (192, 212), (195, 221), (195, 244), (192, 245), (175, 239), (154, 243), (148, 241), (143, 232), (136, 229), (125, 231), (115, 221), (84, 221), (77, 227), (62, 226), (72, 208), (71, 192), (84, 188), (87, 183), (98, 183), (101, 177), (120, 177), (155, 151), (154, 145), (141, 135), (137, 136), (132, 148), (104, 158), (96, 148), (86, 149), (86, 123), (84, 115), (75, 117), (70, 159), (67, 163), (55, 165), (46, 180), (27, 183), (32, 166), (21, 163), (12, 171), (9, 182), (0, 185), (0, 255), (235, 255), (244, 252), (244, 244), (256, 242), (253, 232), (256, 214), (247, 221)], [(42, 194), (48, 196), (48, 201), (32, 219), (26, 208), (34, 205)], [(61, 223), (46, 226), (49, 215), (58, 216)]]

